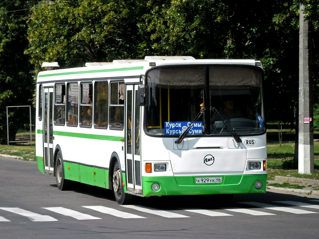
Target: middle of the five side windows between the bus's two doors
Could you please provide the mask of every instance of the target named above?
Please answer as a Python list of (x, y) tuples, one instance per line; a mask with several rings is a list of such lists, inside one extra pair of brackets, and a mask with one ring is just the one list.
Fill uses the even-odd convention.
[(92, 83), (80, 84), (80, 127), (92, 127)]

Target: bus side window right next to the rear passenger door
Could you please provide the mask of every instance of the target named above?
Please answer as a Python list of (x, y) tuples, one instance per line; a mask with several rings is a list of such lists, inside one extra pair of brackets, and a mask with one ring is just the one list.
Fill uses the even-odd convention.
[(65, 124), (65, 84), (55, 85), (54, 124)]

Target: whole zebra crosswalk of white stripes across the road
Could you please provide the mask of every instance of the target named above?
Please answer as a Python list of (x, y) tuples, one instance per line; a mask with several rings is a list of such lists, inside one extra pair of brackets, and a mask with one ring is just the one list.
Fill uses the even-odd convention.
[[(161, 210), (156, 207), (147, 207), (144, 205), (116, 205), (116, 209), (101, 205), (72, 207), (76, 210), (66, 207), (37, 208), (37, 212), (40, 210), (41, 214), (27, 211), (19, 207), (0, 207), (0, 223), (12, 221), (11, 217), (7, 218), (8, 213), (25, 217), (34, 222), (58, 221), (56, 218), (62, 220), (61, 216), (66, 216), (67, 218), (71, 217), (76, 220), (103, 220), (112, 216), (123, 219), (145, 220), (146, 218), (156, 216), (185, 219), (198, 216), (220, 217), (239, 216), (245, 214), (253, 216), (274, 216), (276, 214), (274, 214), (273, 211), (276, 211), (276, 213), (316, 214), (319, 213), (319, 205), (317, 202), (319, 202), (319, 200), (310, 200), (307, 203), (296, 201), (273, 201), (269, 203), (240, 202), (234, 204), (235, 206), (232, 207), (216, 207), (213, 209), (169, 208), (167, 210)], [(5, 217), (4, 215), (1, 215), (2, 211), (7, 212)], [(94, 214), (94, 216), (91, 214)]]

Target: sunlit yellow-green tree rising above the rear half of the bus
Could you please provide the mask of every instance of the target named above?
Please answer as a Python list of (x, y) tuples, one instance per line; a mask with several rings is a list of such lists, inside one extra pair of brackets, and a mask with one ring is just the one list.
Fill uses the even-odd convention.
[(31, 63), (61, 67), (139, 54), (139, 16), (146, 1), (57, 0), (35, 5), (28, 21)]

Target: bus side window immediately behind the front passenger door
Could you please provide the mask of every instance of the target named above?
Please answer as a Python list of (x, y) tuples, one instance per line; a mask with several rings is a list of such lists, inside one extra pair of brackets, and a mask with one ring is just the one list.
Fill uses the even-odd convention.
[(122, 130), (124, 128), (124, 83), (110, 84), (110, 128)]

